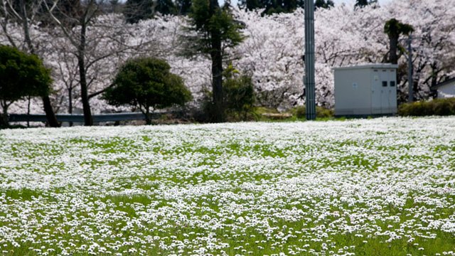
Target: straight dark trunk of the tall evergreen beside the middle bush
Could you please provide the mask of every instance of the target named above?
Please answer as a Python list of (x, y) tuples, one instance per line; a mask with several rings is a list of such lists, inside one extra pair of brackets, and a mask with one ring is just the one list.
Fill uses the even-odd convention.
[[(215, 12), (220, 9), (218, 0), (210, 0), (210, 12), (216, 15)], [(212, 92), (213, 92), (213, 122), (224, 122), (224, 104), (223, 104), (223, 57), (221, 55), (221, 36), (219, 28), (213, 28), (210, 31), (211, 36), (211, 53), (212, 59)]]

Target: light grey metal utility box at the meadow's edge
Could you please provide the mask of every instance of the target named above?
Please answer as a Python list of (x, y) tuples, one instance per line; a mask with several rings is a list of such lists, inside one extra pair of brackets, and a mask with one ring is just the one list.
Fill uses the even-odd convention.
[(334, 68), (335, 115), (396, 114), (397, 68), (382, 63)]

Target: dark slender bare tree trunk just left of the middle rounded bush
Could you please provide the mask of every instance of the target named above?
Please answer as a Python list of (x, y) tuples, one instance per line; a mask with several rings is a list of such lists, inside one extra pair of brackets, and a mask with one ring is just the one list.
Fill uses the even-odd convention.
[[(82, 18), (83, 19), (83, 18)], [(80, 44), (77, 49), (77, 64), (79, 65), (79, 78), (80, 78), (80, 96), (82, 100), (82, 109), (84, 112), (84, 125), (92, 126), (92, 111), (90, 110), (90, 102), (87, 90), (87, 74), (85, 73), (85, 33), (87, 31), (87, 23), (82, 20), (80, 27)]]

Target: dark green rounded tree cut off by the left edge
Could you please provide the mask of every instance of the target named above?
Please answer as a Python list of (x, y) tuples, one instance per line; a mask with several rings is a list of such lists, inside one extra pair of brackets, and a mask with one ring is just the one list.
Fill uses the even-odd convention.
[(8, 125), (8, 108), (24, 97), (46, 96), (52, 79), (50, 70), (36, 55), (11, 46), (0, 46), (0, 127)]

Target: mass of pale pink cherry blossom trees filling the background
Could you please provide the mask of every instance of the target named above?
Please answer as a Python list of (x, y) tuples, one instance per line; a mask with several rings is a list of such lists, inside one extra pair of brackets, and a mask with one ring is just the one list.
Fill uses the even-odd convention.
[[(9, 0), (0, 0), (9, 1)], [(38, 1), (38, 0), (35, 0)], [(48, 2), (49, 3), (49, 2)], [(52, 6), (49, 6), (51, 9)], [(245, 41), (228, 50), (225, 64), (232, 63), (241, 73), (250, 73), (257, 92), (257, 104), (285, 110), (304, 104), (304, 12), (262, 16), (263, 10), (233, 10), (242, 23)], [(0, 43), (26, 47), (21, 23), (1, 16)], [(316, 102), (333, 107), (333, 68), (363, 63), (385, 63), (389, 39), (384, 33), (386, 21), (397, 18), (414, 28), (412, 41), (414, 97), (428, 99), (430, 87), (455, 75), (455, 0), (390, 1), (355, 8), (354, 3), (336, 4), (317, 9), (316, 30)], [(31, 23), (30, 38), (38, 55), (53, 68), (54, 93), (51, 102), (58, 112), (83, 108), (77, 41), (80, 25), (65, 28)], [(204, 90), (211, 89), (210, 59), (187, 58), (179, 53), (185, 47), (182, 36), (192, 33), (181, 16), (160, 16), (128, 24), (119, 14), (97, 14), (85, 33), (85, 80), (87, 97), (93, 112), (128, 110), (112, 107), (100, 94), (112, 84), (114, 74), (128, 58), (154, 56), (165, 59), (171, 72), (180, 75), (193, 94), (197, 106)], [(68, 33), (66, 35), (65, 33)], [(407, 36), (398, 38), (398, 47), (406, 48)], [(76, 41), (76, 44), (75, 44)], [(407, 52), (397, 64), (407, 70)], [(405, 74), (405, 73), (404, 73)], [(397, 85), (400, 100), (407, 98), (407, 76)], [(77, 85), (77, 86), (75, 86)], [(71, 92), (70, 92), (71, 91)], [(70, 103), (71, 102), (71, 103)], [(25, 110), (27, 102), (17, 106)], [(40, 110), (41, 102), (31, 100), (31, 111)]]

